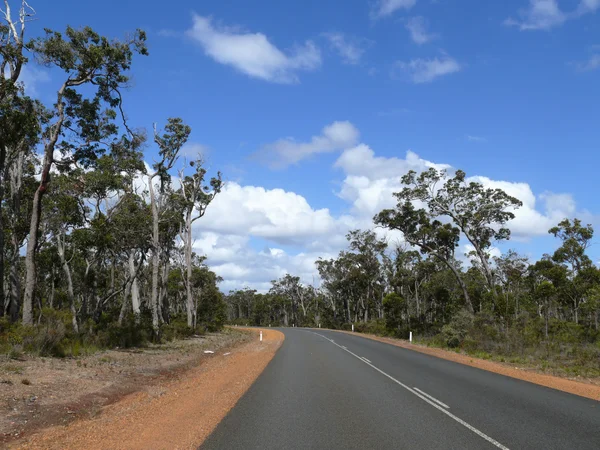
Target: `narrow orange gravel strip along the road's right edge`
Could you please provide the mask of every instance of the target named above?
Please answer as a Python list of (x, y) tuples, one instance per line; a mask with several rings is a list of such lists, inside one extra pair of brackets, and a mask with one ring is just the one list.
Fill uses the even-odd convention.
[(476, 367), (478, 369), (487, 370), (489, 372), (495, 372), (507, 377), (517, 378), (519, 380), (529, 381), (530, 383), (539, 384), (540, 386), (546, 386), (559, 391), (568, 392), (570, 394), (579, 395), (581, 397), (591, 398), (593, 400), (600, 401), (600, 386), (596, 384), (582, 383), (580, 381), (569, 380), (566, 378), (555, 377), (552, 375), (541, 374), (533, 371), (520, 369), (514, 366), (508, 366), (493, 361), (487, 361), (485, 359), (474, 358), (469, 355), (463, 355), (441, 348), (424, 347), (421, 345), (411, 344), (409, 342), (375, 336), (372, 334), (363, 333), (352, 333), (350, 331), (332, 330), (339, 333), (353, 334), (355, 336), (365, 337), (375, 341), (385, 342), (386, 344), (395, 345), (397, 347), (414, 350), (420, 353), (435, 356), (437, 358), (447, 359), (467, 366)]

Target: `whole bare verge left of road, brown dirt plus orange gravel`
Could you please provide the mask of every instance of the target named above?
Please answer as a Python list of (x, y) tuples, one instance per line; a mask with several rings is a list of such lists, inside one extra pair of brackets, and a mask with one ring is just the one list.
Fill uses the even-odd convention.
[[(283, 335), (266, 332), (260, 344), (256, 330), (227, 329), (141, 350), (111, 350), (78, 359), (1, 361), (0, 445), (196, 447), (203, 433), (218, 423), (215, 418), (220, 420), (219, 414), (226, 413), (258, 376), (282, 340)], [(214, 353), (204, 353), (206, 350)], [(223, 370), (233, 372), (221, 374)], [(206, 398), (208, 394), (210, 398)], [(149, 423), (148, 418), (162, 422)], [(185, 424), (191, 424), (188, 418), (193, 418), (195, 426), (186, 429)], [(168, 429), (161, 425), (166, 422)], [(147, 435), (153, 436), (151, 442), (128, 440)], [(109, 443), (108, 437), (114, 440)], [(174, 440), (166, 444), (165, 437)]]

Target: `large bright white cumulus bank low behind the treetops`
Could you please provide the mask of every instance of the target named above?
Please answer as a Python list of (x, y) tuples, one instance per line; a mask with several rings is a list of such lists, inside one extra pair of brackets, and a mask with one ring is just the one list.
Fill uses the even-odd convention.
[[(358, 131), (353, 140), (358, 140)], [(314, 262), (319, 257), (335, 257), (345, 248), (349, 230), (372, 228), (373, 216), (395, 205), (393, 193), (402, 189), (404, 174), (430, 167), (446, 169), (449, 174), (455, 171), (448, 164), (429, 161), (412, 151), (403, 157), (378, 156), (365, 144), (345, 148), (334, 166), (343, 176), (337, 195), (348, 205), (346, 212), (337, 216), (329, 209), (314, 208), (298, 193), (233, 182), (225, 185), (193, 228), (195, 251), (207, 255), (212, 270), (224, 278), (222, 290), (247, 286), (267, 291), (271, 280), (286, 273), (300, 276), (303, 283), (318, 284)], [(525, 182), (485, 176), (471, 176), (468, 181), (503, 189), (523, 202), (508, 224), (513, 240), (545, 236), (565, 217), (582, 215), (570, 194), (536, 195)], [(403, 244), (399, 232), (382, 228), (375, 232), (391, 246)], [(466, 244), (461, 242), (457, 251), (464, 262), (468, 262)], [(499, 255), (496, 248), (490, 252)]]

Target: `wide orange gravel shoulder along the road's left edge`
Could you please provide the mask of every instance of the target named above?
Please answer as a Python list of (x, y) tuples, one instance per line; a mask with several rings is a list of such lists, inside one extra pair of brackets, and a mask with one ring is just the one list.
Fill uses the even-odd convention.
[[(252, 330), (258, 333), (258, 330)], [(138, 392), (91, 420), (50, 428), (15, 443), (28, 449), (192, 449), (204, 442), (271, 361), (283, 333), (263, 330), (180, 379)]]

